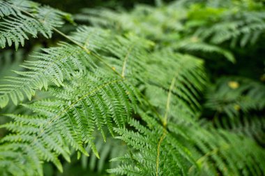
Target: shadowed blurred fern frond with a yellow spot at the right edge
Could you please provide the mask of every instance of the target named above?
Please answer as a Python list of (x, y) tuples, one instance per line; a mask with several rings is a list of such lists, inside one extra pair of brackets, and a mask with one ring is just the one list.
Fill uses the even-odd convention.
[[(221, 78), (206, 94), (206, 108), (215, 112), (213, 122), (221, 129), (264, 143), (265, 87), (246, 78)], [(259, 112), (260, 111), (260, 112)]]

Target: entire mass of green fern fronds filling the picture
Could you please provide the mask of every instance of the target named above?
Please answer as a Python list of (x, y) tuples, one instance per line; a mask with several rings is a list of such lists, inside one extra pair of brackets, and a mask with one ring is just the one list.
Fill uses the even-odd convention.
[[(255, 13), (251, 20), (248, 15), (238, 35), (216, 42), (215, 25), (222, 25), (224, 13), (234, 15), (226, 8), (231, 3), (156, 3), (156, 8), (139, 6), (132, 13), (99, 10), (94, 17), (92, 11), (90, 22), (96, 27), (77, 25), (64, 34), (57, 28), (63, 20), (73, 23), (68, 13), (32, 1), (0, 1), (1, 47), (14, 44), (17, 49), (38, 34), (63, 37), (24, 61), (0, 85), (0, 112), (8, 119), (1, 124), (8, 130), (0, 141), (1, 175), (43, 175), (45, 162), (63, 172), (62, 163), (70, 162), (73, 152), (86, 168), (91, 151), (91, 169), (96, 157), (101, 159), (98, 170), (109, 166), (110, 157), (119, 162), (107, 172), (117, 175), (264, 175), (263, 83), (233, 77), (212, 83), (205, 67), (215, 52), (233, 62), (237, 47), (255, 45), (258, 38), (244, 35), (256, 36), (263, 16)], [(250, 4), (250, 10), (264, 9)], [(252, 27), (256, 22), (259, 27)], [(251, 32), (245, 34), (249, 25)], [(228, 46), (229, 40), (241, 45)], [(18, 112), (5, 109), (11, 107)], [(253, 124), (258, 133), (248, 125), (234, 131), (244, 124)], [(111, 149), (116, 145), (126, 154), (117, 157)]]

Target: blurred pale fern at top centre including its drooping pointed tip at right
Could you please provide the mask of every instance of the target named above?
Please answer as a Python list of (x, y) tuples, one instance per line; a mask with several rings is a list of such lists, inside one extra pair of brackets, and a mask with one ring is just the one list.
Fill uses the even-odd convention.
[[(137, 6), (131, 13), (116, 13), (108, 9), (86, 9), (75, 18), (81, 22), (91, 22), (94, 26), (111, 27), (115, 31), (133, 31), (139, 36), (145, 36), (151, 40), (158, 41), (162, 45), (169, 45), (174, 50), (180, 50), (194, 54), (194, 52), (216, 52), (234, 62), (234, 56), (229, 50), (218, 47), (210, 43), (205, 43), (197, 37), (185, 34), (188, 37), (181, 38), (181, 33), (185, 30), (185, 25), (181, 20), (185, 20), (185, 15), (180, 15), (183, 5), (172, 3), (162, 8), (152, 8), (149, 6)], [(166, 10), (165, 10), (166, 8)], [(176, 10), (177, 9), (177, 10)], [(185, 9), (185, 8), (184, 8)], [(182, 12), (188, 14), (188, 10)], [(159, 16), (160, 18), (156, 18)], [(118, 28), (118, 29), (116, 29)], [(181, 41), (179, 39), (181, 38)], [(187, 39), (191, 38), (191, 39)], [(178, 41), (176, 43), (176, 41)], [(193, 52), (193, 53), (192, 53)]]

